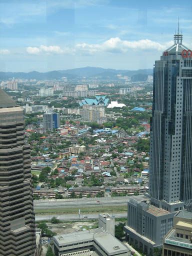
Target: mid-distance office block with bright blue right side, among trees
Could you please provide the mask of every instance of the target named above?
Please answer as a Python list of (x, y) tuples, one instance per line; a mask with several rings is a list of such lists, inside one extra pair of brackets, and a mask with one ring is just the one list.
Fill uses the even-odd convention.
[(45, 130), (53, 130), (60, 127), (60, 115), (55, 112), (43, 113), (43, 127)]

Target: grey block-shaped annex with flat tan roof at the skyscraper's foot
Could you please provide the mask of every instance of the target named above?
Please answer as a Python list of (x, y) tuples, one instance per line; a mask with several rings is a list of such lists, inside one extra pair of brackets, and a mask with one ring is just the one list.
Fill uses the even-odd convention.
[(161, 247), (163, 236), (172, 227), (174, 214), (147, 203), (145, 198), (130, 199), (124, 227), (128, 242), (152, 256), (154, 248)]

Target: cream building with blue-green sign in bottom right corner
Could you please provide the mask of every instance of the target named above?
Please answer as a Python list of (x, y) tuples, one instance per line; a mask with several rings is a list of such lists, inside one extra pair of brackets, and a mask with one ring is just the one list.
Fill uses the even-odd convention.
[(192, 213), (179, 211), (173, 217), (173, 227), (163, 240), (163, 256), (191, 256)]

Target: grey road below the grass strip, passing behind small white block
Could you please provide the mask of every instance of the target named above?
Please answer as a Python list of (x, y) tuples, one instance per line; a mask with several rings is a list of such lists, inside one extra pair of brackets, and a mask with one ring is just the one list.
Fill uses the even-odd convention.
[[(114, 213), (112, 214), (116, 218), (126, 217), (126, 213)], [(78, 214), (54, 214), (54, 215), (37, 215), (35, 214), (35, 220), (50, 220), (53, 216), (60, 220), (79, 220)], [(85, 217), (86, 216), (86, 217)], [(98, 218), (98, 213), (80, 214), (80, 219), (95, 219)]]

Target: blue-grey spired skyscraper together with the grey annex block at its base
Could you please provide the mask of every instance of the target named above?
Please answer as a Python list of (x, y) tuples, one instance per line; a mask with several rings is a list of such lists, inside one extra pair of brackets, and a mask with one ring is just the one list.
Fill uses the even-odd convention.
[(191, 127), (192, 51), (182, 44), (182, 35), (177, 32), (174, 44), (155, 61), (153, 71), (150, 203), (139, 198), (128, 202), (128, 240), (148, 255), (162, 247), (176, 212), (183, 207), (191, 211)]

